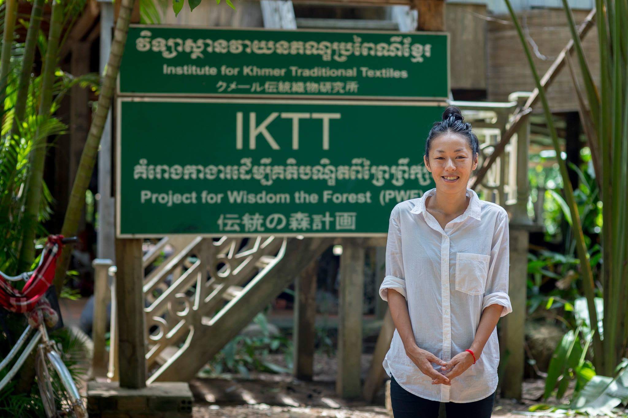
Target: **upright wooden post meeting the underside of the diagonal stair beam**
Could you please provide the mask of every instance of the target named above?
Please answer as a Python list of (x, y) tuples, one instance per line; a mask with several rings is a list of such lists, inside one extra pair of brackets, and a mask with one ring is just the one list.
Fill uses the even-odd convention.
[(294, 375), (300, 380), (312, 380), (314, 374), (317, 273), (318, 259), (314, 259), (296, 279)]

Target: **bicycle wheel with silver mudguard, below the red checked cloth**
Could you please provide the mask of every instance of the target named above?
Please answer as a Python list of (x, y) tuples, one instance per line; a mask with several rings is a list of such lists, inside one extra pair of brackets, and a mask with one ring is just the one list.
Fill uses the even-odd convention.
[(72, 376), (56, 351), (38, 350), (36, 374), (47, 417), (87, 417), (87, 410)]

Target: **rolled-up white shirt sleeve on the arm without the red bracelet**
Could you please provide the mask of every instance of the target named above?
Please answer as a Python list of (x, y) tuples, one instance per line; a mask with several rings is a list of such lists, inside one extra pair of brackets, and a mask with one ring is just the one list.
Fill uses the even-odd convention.
[(406, 296), (406, 275), (401, 254), (401, 227), (399, 227), (399, 206), (391, 212), (386, 241), (386, 277), (379, 286), (379, 296), (388, 301), (388, 290), (393, 289)]

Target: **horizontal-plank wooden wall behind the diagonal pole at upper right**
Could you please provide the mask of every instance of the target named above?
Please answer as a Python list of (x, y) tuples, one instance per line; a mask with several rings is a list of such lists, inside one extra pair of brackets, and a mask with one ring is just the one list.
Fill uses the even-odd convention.
[[(573, 11), (577, 24), (582, 23), (588, 11)], [(502, 21), (510, 22), (509, 16), (495, 16)], [(519, 14), (519, 21), (523, 28), (529, 29), (530, 38), (538, 45), (541, 54), (547, 56), (546, 60), (534, 56), (539, 75), (549, 68), (560, 50), (571, 38), (566, 23), (565, 11), (562, 9), (534, 9)], [(531, 91), (534, 88), (534, 80), (524, 55), (521, 42), (512, 24), (504, 24), (499, 21), (487, 22), (488, 28), (488, 71), (487, 93), (490, 101), (506, 101), (512, 91)], [(593, 78), (599, 83), (599, 55), (597, 52), (597, 31), (591, 30), (583, 41), (583, 48), (593, 71)], [(573, 63), (577, 65), (574, 56)], [(580, 73), (579, 67), (578, 74)], [(582, 80), (580, 81), (582, 83)], [(581, 84), (582, 85), (582, 84)], [(573, 83), (568, 70), (561, 74), (548, 90), (549, 106), (552, 112), (575, 112), (578, 110), (577, 97), (573, 90)], [(541, 106), (537, 106), (534, 112), (542, 112)]]

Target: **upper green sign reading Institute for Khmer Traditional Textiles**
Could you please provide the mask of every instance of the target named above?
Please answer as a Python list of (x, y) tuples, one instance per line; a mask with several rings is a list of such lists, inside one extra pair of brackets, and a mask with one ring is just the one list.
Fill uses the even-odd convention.
[(447, 33), (133, 25), (121, 95), (445, 100)]

